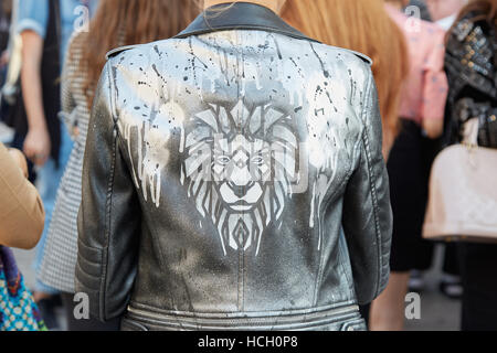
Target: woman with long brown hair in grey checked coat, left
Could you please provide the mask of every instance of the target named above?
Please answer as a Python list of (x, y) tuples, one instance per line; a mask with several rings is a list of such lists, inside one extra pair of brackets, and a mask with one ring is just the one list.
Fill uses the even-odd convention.
[(59, 188), (40, 275), (44, 284), (63, 292), (71, 331), (119, 327), (119, 320), (102, 324), (96, 320), (75, 320), (73, 314), (83, 157), (89, 110), (106, 53), (118, 46), (176, 35), (198, 12), (193, 3), (182, 0), (101, 0), (89, 31), (72, 39), (62, 74), (62, 107), (75, 143)]

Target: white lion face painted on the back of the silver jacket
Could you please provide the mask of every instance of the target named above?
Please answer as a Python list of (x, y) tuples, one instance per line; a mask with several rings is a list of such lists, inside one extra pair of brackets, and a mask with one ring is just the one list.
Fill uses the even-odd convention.
[(292, 116), (271, 106), (252, 110), (240, 100), (228, 111), (211, 105), (194, 115), (181, 146), (181, 182), (210, 216), (221, 245), (256, 246), (264, 229), (281, 218), (296, 174), (297, 138)]

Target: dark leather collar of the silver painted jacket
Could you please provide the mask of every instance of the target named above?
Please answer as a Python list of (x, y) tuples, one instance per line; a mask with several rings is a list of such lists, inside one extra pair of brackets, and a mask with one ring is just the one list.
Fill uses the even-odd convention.
[(175, 38), (184, 39), (190, 35), (229, 30), (275, 32), (319, 43), (287, 24), (269, 9), (242, 1), (221, 3), (207, 9), (184, 31)]

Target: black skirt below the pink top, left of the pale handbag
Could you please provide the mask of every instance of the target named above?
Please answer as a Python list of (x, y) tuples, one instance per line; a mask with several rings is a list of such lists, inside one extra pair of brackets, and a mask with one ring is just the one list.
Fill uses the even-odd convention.
[(436, 141), (423, 138), (414, 121), (401, 119), (401, 131), (387, 163), (393, 212), (390, 254), (393, 272), (426, 270), (433, 257), (433, 243), (423, 239), (421, 233)]

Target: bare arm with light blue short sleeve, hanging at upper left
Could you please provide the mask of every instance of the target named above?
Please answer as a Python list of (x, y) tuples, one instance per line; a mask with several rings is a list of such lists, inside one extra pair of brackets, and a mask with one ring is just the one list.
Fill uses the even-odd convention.
[(28, 115), (24, 153), (36, 165), (43, 165), (51, 141), (43, 107), (41, 63), (49, 18), (47, 0), (21, 0), (17, 31), (22, 38), (21, 86)]

